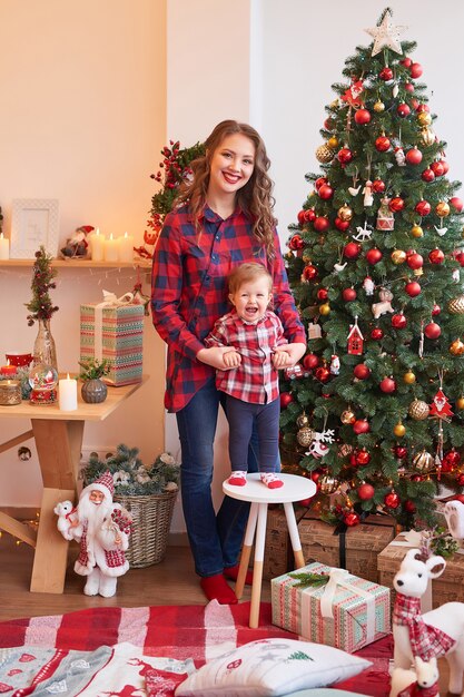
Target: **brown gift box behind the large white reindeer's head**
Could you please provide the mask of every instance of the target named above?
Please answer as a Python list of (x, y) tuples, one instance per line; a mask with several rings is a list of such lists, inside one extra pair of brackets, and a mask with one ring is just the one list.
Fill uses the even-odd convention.
[[(393, 577), (399, 569), (408, 549), (417, 547), (407, 542), (405, 534), (398, 534), (377, 558), (378, 582), (392, 589)], [(463, 552), (463, 553), (460, 553)], [(446, 569), (437, 579), (432, 581), (432, 607), (438, 608), (445, 602), (464, 602), (464, 550), (456, 552), (451, 559), (446, 559)], [(423, 608), (425, 611), (427, 608)]]

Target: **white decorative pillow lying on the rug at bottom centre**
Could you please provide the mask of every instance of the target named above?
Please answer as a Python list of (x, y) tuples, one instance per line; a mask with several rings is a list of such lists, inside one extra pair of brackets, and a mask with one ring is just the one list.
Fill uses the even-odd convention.
[(372, 662), (332, 646), (260, 639), (214, 658), (176, 689), (176, 697), (277, 697), (351, 678)]

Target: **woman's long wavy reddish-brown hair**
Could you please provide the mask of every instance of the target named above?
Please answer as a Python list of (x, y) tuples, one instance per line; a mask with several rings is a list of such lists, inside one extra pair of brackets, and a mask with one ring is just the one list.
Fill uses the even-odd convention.
[(246, 185), (237, 192), (237, 204), (253, 216), (253, 234), (264, 245), (267, 255), (274, 258), (274, 228), (277, 220), (273, 214), (275, 204), (272, 195), (273, 181), (267, 175), (270, 160), (267, 157), (263, 138), (248, 124), (229, 119), (216, 126), (205, 141), (205, 155), (190, 163), (194, 176), (190, 181), (185, 181), (180, 186), (175, 205), (188, 203), (195, 225), (199, 228), (199, 217), (208, 192), (213, 155), (227, 136), (235, 134), (246, 136), (255, 146), (255, 167)]

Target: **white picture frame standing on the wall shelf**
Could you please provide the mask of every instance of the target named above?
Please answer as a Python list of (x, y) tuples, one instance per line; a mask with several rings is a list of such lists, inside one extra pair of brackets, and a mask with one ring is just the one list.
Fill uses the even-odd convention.
[(53, 258), (59, 245), (57, 198), (14, 198), (11, 212), (10, 258), (32, 259), (43, 245)]

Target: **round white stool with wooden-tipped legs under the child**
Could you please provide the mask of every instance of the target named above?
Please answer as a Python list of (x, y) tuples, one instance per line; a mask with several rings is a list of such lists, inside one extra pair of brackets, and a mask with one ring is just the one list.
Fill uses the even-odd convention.
[(249, 611), (249, 626), (251, 629), (256, 629), (259, 626), (259, 602), (261, 597), (264, 543), (266, 539), (268, 503), (284, 504), (288, 533), (295, 556), (295, 568), (299, 569), (305, 566), (293, 502), (314, 497), (316, 493), (316, 484), (310, 479), (298, 477), (297, 474), (280, 474), (280, 478), (284, 485), (279, 489), (268, 489), (266, 484), (260, 481), (259, 473), (247, 474), (247, 483), (245, 487), (233, 487), (227, 483), (227, 480), (223, 483), (225, 494), (233, 499), (238, 499), (239, 501), (248, 501), (251, 504), (235, 587), (235, 593), (237, 598), (240, 599), (244, 593), (245, 577), (256, 531), (251, 605)]

